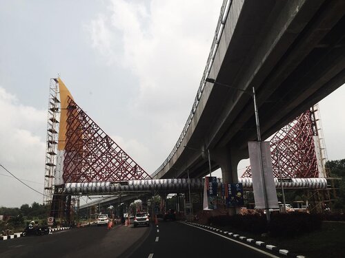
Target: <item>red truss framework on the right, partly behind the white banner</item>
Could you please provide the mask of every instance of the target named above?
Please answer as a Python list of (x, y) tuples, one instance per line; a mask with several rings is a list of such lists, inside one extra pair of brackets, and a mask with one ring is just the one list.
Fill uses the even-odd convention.
[[(277, 131), (270, 140), (273, 175), (282, 178), (317, 178), (317, 158), (313, 136), (317, 136), (313, 108), (305, 111), (288, 125)], [(251, 178), (250, 166), (242, 178)]]

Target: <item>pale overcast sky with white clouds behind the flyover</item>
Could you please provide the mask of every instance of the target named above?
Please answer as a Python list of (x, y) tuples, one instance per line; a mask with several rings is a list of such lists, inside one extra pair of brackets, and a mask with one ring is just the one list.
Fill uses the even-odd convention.
[[(222, 0), (0, 3), (0, 164), (43, 192), (50, 78), (149, 174), (190, 114)], [(345, 158), (345, 87), (320, 103), (328, 158)], [(240, 171), (242, 164), (239, 164)], [(0, 206), (42, 203), (0, 168)]]

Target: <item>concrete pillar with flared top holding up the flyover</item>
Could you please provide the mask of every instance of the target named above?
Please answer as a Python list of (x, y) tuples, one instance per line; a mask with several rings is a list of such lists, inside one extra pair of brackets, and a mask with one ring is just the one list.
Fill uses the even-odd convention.
[[(248, 150), (239, 150), (230, 147), (222, 147), (210, 150), (211, 160), (217, 162), (221, 168), (223, 183), (238, 182), (237, 165), (240, 160), (248, 157)], [(238, 214), (240, 208), (229, 208), (230, 215)]]

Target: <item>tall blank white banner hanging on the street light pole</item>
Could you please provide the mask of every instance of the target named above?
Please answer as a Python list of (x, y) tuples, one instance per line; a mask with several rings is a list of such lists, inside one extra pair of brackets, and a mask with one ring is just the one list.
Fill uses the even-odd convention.
[[(273, 178), (270, 142), (261, 142), (262, 166), (260, 165), (259, 142), (248, 142), (248, 151), (253, 178), (255, 208), (279, 208)], [(262, 169), (264, 169), (264, 173), (262, 173)], [(264, 175), (264, 178), (262, 175)], [(265, 205), (264, 189), (266, 189), (267, 206)]]

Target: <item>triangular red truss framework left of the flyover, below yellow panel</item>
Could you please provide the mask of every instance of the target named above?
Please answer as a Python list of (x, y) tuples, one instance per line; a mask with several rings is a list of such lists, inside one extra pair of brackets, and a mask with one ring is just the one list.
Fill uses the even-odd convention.
[(151, 179), (71, 98), (67, 116), (64, 182)]

